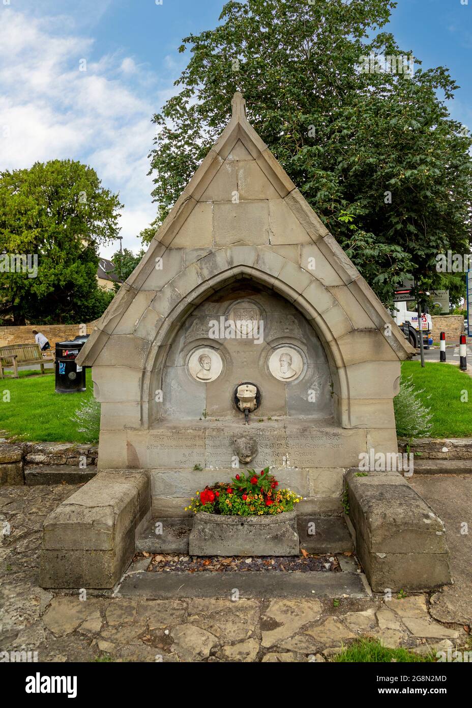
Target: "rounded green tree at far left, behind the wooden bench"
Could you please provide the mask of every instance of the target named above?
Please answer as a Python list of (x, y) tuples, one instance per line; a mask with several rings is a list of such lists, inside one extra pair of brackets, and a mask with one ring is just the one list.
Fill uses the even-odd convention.
[[(98, 247), (119, 233), (121, 207), (118, 195), (80, 162), (1, 172), (1, 320), (49, 324), (100, 316), (112, 295), (98, 287)], [(28, 258), (29, 274), (21, 258)]]

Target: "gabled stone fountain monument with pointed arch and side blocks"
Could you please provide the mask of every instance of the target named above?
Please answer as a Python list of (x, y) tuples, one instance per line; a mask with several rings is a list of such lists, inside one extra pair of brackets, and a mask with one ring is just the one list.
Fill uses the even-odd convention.
[[(236, 93), (220, 139), (78, 356), (101, 402), (100, 472), (49, 515), (42, 585), (112, 587), (151, 519), (182, 517), (196, 489), (236, 467), (273, 467), (304, 497), (299, 513), (340, 514), (360, 453), (397, 452), (393, 399), (412, 353)], [(415, 554), (439, 564), (430, 586), (446, 582), (442, 524), (428, 516), (426, 538), (430, 508), (398, 472), (379, 475), (348, 489), (371, 583), (396, 582), (389, 556), (375, 574), (382, 543), (362, 516), (372, 498), (397, 542), (408, 509), (406, 548), (391, 544), (401, 587)]]

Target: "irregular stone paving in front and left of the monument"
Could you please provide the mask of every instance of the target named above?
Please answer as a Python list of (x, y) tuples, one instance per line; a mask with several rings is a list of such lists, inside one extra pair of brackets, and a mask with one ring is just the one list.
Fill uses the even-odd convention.
[[(427, 595), (129, 600), (54, 595), (37, 585), (41, 527), (76, 487), (0, 489), (0, 651), (38, 661), (329, 661), (358, 636), (419, 653), (464, 647), (461, 624), (432, 619)], [(472, 648), (472, 647), (471, 647)]]

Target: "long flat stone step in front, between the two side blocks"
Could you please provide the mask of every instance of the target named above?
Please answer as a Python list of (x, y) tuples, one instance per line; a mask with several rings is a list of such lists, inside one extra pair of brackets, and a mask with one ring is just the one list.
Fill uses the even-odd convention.
[(225, 573), (148, 573), (131, 569), (117, 590), (122, 598), (367, 598), (370, 588), (363, 573), (312, 571), (228, 571)]

